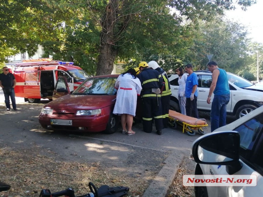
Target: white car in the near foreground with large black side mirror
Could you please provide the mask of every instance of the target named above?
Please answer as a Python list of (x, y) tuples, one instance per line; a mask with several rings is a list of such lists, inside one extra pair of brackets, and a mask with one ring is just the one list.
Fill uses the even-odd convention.
[[(195, 187), (196, 197), (262, 196), (263, 106), (194, 141), (195, 175), (256, 175), (254, 187)], [(211, 156), (213, 155), (213, 156)], [(220, 159), (221, 158), (221, 159)]]

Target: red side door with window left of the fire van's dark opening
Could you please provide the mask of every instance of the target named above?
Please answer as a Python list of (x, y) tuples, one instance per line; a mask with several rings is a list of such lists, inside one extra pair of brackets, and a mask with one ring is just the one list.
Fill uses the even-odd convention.
[(40, 71), (25, 72), (24, 97), (40, 100)]

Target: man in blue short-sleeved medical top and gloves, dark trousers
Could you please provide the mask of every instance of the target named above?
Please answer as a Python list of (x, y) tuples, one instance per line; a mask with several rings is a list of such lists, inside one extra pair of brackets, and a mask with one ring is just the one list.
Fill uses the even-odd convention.
[(184, 69), (188, 73), (186, 84), (185, 84), (186, 115), (194, 118), (198, 118), (198, 111), (197, 111), (198, 78), (197, 75), (193, 72), (192, 64), (187, 64)]

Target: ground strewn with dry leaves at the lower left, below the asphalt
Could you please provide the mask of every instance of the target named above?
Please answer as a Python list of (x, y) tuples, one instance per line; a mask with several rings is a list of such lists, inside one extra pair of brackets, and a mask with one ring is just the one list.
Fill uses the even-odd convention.
[[(41, 154), (45, 151), (46, 155)], [(34, 147), (32, 150), (14, 151), (0, 148), (0, 177), (2, 182), (11, 185), (9, 191), (0, 192), (0, 197), (38, 197), (41, 189), (50, 189), (51, 193), (73, 188), (75, 195), (90, 192), (88, 183), (129, 187), (128, 196), (142, 196), (156, 172), (130, 177), (118, 168), (107, 168), (99, 162), (78, 163), (65, 162), (59, 156)]]

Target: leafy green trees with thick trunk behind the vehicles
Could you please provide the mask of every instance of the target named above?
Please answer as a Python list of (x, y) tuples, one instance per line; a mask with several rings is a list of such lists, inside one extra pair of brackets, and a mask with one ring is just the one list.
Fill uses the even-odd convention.
[[(237, 2), (244, 9), (255, 3)], [(91, 75), (96, 70), (97, 75), (110, 73), (116, 58), (132, 59), (137, 65), (157, 60), (171, 73), (189, 62), (201, 68), (206, 53), (214, 53), (213, 59), (231, 69), (245, 64), (241, 34), (221, 43), (222, 37), (212, 39), (217, 31), (193, 31), (200, 20), (210, 21), (233, 9), (232, 0), (4, 0), (1, 5), (0, 62), (18, 51), (32, 56), (41, 45), (43, 57), (74, 61)], [(169, 6), (176, 12), (171, 14)], [(237, 26), (224, 24), (220, 34), (230, 36), (224, 31)], [(218, 28), (216, 23), (213, 28)], [(237, 45), (242, 50), (236, 50)]]

